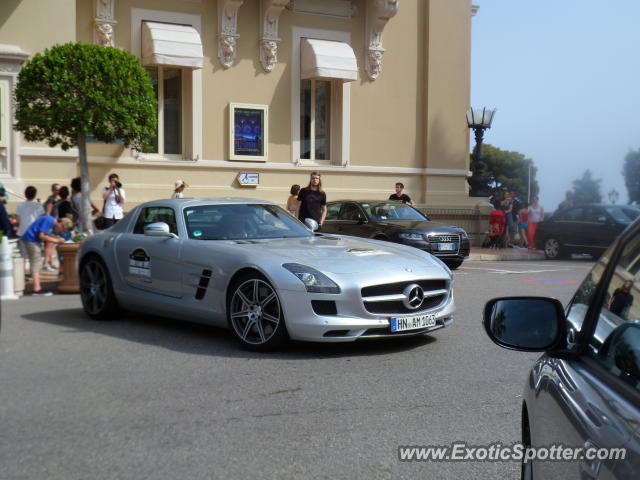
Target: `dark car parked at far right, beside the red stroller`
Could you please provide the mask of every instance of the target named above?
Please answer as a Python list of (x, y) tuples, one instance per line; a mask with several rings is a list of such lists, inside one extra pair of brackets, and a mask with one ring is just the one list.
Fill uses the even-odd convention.
[(571, 253), (601, 255), (613, 240), (640, 215), (626, 205), (577, 205), (556, 211), (538, 224), (536, 247), (549, 259)]

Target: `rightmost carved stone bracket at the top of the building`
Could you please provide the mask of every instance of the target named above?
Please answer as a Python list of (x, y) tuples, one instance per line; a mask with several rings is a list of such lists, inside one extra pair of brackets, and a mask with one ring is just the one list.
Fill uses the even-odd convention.
[(367, 24), (365, 34), (365, 70), (369, 80), (374, 81), (382, 71), (382, 31), (387, 22), (398, 13), (400, 0), (369, 0), (367, 2)]

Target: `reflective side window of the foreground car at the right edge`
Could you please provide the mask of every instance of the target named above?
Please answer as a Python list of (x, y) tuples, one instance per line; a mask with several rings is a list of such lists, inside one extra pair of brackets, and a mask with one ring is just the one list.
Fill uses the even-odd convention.
[(589, 349), (611, 373), (640, 388), (640, 236), (624, 248), (607, 289)]

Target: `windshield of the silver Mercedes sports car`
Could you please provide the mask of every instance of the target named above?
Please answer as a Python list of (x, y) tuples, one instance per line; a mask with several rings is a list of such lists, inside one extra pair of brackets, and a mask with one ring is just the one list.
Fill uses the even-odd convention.
[(198, 205), (184, 209), (189, 238), (257, 240), (310, 237), (302, 223), (276, 205)]

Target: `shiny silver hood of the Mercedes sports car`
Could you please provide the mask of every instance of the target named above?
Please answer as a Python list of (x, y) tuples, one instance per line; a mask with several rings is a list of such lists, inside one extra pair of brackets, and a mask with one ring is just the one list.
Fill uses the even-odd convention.
[(377, 240), (317, 235), (235, 243), (247, 251), (255, 250), (256, 256), (277, 256), (283, 263), (300, 263), (330, 273), (362, 273), (372, 269), (412, 271), (419, 268), (422, 272), (432, 270), (437, 276), (446, 275), (441, 264), (430, 255), (411, 247)]

